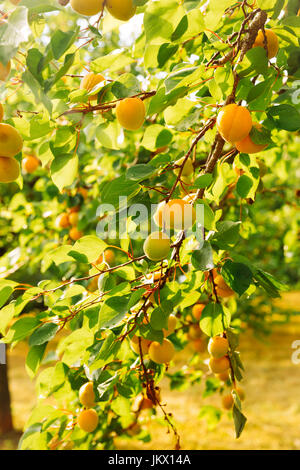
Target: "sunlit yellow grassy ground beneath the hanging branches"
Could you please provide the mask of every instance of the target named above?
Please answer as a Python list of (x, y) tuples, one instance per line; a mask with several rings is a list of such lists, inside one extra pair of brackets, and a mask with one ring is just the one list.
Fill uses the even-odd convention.
[[(300, 292), (289, 292), (277, 301), (284, 309), (293, 310), (300, 304)], [(195, 385), (185, 391), (169, 391), (168, 381), (164, 379), (162, 401), (168, 404), (167, 410), (174, 413), (182, 448), (192, 449), (259, 449), (259, 450), (296, 450), (300, 449), (298, 433), (300, 421), (300, 365), (292, 363), (292, 343), (300, 340), (299, 317), (294, 317), (289, 325), (274, 328), (273, 334), (262, 343), (255, 339), (252, 332), (241, 337), (240, 351), (247, 370), (242, 387), (246, 392), (244, 409), (248, 423), (242, 436), (234, 436), (232, 421), (226, 413), (213, 431), (207, 429), (204, 421), (198, 420), (202, 405), (220, 406), (220, 396), (215, 395), (205, 400), (199, 398), (202, 385)], [(12, 394), (12, 407), (15, 428), (20, 430), (9, 436), (0, 436), (0, 449), (9, 450), (17, 447), (21, 430), (30, 416), (35, 404), (34, 383), (28, 378), (25, 368), (27, 346), (19, 344), (9, 353), (9, 375)], [(177, 354), (174, 361), (176, 368), (186, 363), (192, 354), (190, 348)], [(208, 358), (204, 353), (203, 358)], [(147, 415), (146, 415), (147, 416)], [(197, 432), (195, 422), (197, 420)], [(158, 429), (159, 428), (159, 429)], [(167, 428), (152, 422), (148, 429), (152, 442), (142, 443), (136, 440), (118, 438), (118, 449), (170, 449), (172, 435)], [(157, 432), (157, 431), (160, 432)]]

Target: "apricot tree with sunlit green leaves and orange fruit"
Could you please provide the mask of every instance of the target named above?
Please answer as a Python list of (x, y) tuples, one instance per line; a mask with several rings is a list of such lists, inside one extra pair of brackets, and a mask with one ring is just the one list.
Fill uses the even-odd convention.
[(219, 394), (239, 437), (239, 337), (268, 332), (254, 300), (297, 278), (295, 2), (1, 15), (0, 334), (28, 342), (38, 396), (20, 448), (146, 442), (162, 416), (179, 449), (163, 377)]

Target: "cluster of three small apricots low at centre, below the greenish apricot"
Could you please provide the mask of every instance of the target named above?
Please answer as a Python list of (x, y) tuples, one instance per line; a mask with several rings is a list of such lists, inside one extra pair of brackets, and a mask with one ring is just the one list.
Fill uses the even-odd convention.
[(175, 355), (175, 348), (168, 336), (174, 333), (177, 325), (175, 315), (170, 315), (168, 318), (168, 328), (163, 328), (164, 339), (162, 343), (158, 341), (150, 341), (145, 338), (134, 335), (130, 340), (132, 350), (143, 356), (149, 355), (149, 358), (156, 364), (168, 364)]

